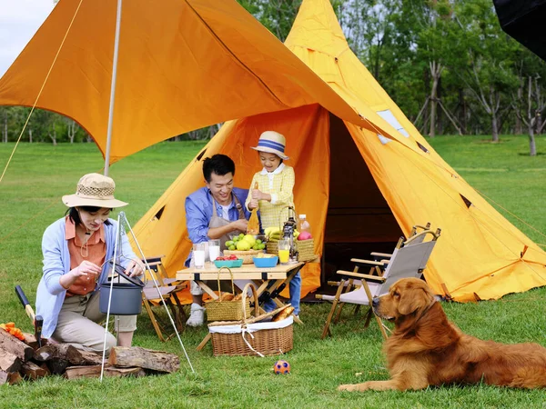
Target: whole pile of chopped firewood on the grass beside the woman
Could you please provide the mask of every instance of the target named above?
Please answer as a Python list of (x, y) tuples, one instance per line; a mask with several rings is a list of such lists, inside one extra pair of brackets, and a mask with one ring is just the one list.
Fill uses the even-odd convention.
[[(0, 328), (0, 384), (16, 384), (22, 379), (37, 379), (61, 374), (67, 379), (100, 376), (102, 354), (83, 351), (71, 344), (45, 344), (41, 348), (33, 334), (20, 341)], [(116, 346), (105, 364), (104, 376), (144, 376), (176, 372), (176, 354)]]

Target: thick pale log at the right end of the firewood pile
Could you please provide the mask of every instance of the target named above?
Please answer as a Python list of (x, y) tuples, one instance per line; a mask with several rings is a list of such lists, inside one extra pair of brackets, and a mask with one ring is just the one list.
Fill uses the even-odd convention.
[(176, 354), (141, 348), (139, 346), (114, 346), (110, 351), (108, 363), (114, 366), (139, 366), (157, 372), (172, 374), (180, 366)]

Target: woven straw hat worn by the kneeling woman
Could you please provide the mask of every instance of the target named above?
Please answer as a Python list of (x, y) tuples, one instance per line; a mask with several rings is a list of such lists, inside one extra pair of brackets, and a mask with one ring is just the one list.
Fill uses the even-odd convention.
[(108, 209), (128, 205), (114, 197), (115, 189), (116, 184), (112, 178), (99, 174), (87, 174), (77, 183), (75, 195), (63, 196), (63, 203), (68, 207), (93, 206)]

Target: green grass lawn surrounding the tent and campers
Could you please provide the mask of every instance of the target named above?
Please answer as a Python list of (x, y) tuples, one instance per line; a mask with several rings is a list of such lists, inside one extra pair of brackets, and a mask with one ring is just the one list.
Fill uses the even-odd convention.
[[(488, 140), (489, 136), (437, 137), (430, 143), (483, 195), (546, 232), (542, 209), (546, 155), (529, 157), (524, 136), (504, 136), (497, 145)], [(158, 144), (112, 166), (116, 196), (131, 204), (126, 207), (131, 224), (136, 224), (203, 145)], [(546, 152), (546, 138), (539, 137), (537, 145), (539, 152)], [(13, 146), (0, 145), (2, 167)], [(95, 145), (19, 145), (0, 184), (0, 322), (15, 321), (32, 332), (14, 286), (21, 284), (34, 304), (44, 229), (64, 214), (61, 195), (74, 191), (81, 175), (100, 172), (102, 165)], [(537, 243), (546, 243), (542, 234), (510, 214), (507, 217)], [(463, 331), (480, 338), (546, 345), (545, 296), (546, 290), (541, 288), (495, 302), (444, 304), (444, 309)], [(287, 376), (272, 374), (277, 357), (217, 358), (212, 356), (210, 344), (197, 353), (195, 348), (207, 334), (206, 328), (187, 328), (182, 334), (197, 372), (192, 374), (177, 340), (160, 343), (143, 313), (134, 344), (179, 354), (177, 374), (106, 378), (102, 384), (95, 379), (66, 381), (51, 376), (34, 383), (0, 386), (0, 407), (543, 407), (542, 391), (486, 385), (339, 394), (339, 384), (386, 379), (388, 373), (377, 325), (364, 331), (362, 320), (352, 316), (349, 308), (342, 322), (333, 327), (334, 336), (319, 339), (328, 311), (329, 304), (302, 305), (305, 324), (294, 328), (295, 348), (284, 356), (292, 366), (292, 374)]]

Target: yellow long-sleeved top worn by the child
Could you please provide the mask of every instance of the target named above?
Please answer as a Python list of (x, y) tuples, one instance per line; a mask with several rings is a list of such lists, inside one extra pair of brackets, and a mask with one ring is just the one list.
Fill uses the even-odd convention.
[[(286, 206), (294, 206), (293, 190), (296, 183), (294, 168), (280, 164), (277, 169), (270, 173), (264, 168), (252, 177), (250, 189), (253, 189), (255, 182), (258, 182), (259, 191), (271, 195), (271, 202), (267, 200), (259, 201), (262, 229), (274, 226), (282, 227), (282, 224), (288, 218)], [(252, 195), (249, 193), (247, 202), (245, 202), (247, 208), (250, 199), (252, 199)]]

